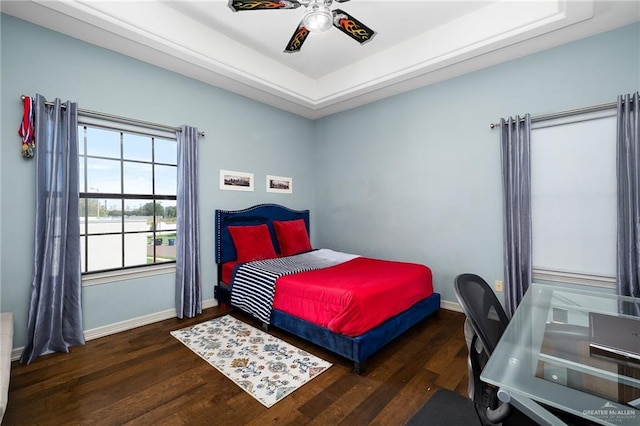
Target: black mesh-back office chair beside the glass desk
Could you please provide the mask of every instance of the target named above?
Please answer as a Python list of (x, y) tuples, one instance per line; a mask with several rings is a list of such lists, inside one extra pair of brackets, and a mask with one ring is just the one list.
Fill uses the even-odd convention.
[(500, 301), (489, 284), (475, 274), (458, 275), (454, 292), (474, 331), (469, 346), (469, 389), (482, 423), (536, 424), (509, 404), (500, 402), (498, 389), (480, 380), (482, 369), (509, 325), (509, 317)]

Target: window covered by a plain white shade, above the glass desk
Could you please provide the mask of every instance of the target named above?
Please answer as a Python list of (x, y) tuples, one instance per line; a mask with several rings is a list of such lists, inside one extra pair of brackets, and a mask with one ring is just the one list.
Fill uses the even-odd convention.
[(615, 284), (615, 115), (613, 109), (532, 125), (535, 279)]

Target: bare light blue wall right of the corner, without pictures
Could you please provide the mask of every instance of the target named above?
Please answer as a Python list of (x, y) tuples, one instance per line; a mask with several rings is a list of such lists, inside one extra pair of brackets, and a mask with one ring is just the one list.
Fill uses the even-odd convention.
[(635, 24), (318, 120), (317, 243), (430, 265), (448, 301), (460, 273), (501, 280), (500, 147), (490, 123), (639, 88)]

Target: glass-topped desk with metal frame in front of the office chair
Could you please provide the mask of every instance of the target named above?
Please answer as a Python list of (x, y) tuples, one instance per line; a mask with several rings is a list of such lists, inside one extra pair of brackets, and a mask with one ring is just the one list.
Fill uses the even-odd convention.
[(640, 361), (591, 354), (589, 345), (591, 312), (632, 321), (639, 306), (636, 298), (532, 284), (480, 377), (541, 424), (564, 423), (539, 403), (593, 423), (640, 425)]

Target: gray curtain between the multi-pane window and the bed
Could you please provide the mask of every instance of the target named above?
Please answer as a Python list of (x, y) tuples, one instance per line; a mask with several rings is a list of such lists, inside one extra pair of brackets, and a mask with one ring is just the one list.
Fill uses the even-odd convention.
[(176, 313), (192, 318), (202, 313), (200, 224), (198, 219), (198, 129), (182, 126), (178, 139), (178, 223)]

